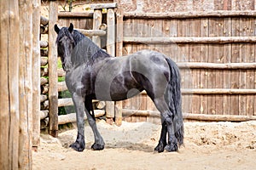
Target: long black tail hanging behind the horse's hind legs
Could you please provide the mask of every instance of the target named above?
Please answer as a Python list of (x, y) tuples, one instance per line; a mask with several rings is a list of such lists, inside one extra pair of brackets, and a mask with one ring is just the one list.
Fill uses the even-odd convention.
[(166, 58), (170, 67), (171, 75), (169, 81), (169, 89), (171, 98), (169, 100), (169, 107), (173, 113), (172, 121), (174, 134), (177, 138), (178, 145), (183, 144), (183, 113), (182, 113), (182, 96), (181, 96), (181, 78), (177, 65), (170, 58)]

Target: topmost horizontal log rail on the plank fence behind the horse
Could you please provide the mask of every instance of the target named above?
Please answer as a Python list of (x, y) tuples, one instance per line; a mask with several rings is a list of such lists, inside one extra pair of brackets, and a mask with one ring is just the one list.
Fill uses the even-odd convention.
[(256, 17), (256, 11), (189, 11), (189, 12), (171, 12), (171, 13), (135, 13), (125, 12), (125, 19), (188, 19), (188, 18), (206, 18), (206, 17)]

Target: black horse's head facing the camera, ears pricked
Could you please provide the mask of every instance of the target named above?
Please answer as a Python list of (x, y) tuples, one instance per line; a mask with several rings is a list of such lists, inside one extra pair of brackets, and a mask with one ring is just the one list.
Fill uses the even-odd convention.
[(58, 34), (56, 43), (58, 55), (61, 57), (62, 67), (64, 71), (69, 71), (72, 67), (71, 55), (75, 46), (73, 39), (73, 24), (70, 26), (62, 27), (61, 29), (55, 25), (55, 32)]

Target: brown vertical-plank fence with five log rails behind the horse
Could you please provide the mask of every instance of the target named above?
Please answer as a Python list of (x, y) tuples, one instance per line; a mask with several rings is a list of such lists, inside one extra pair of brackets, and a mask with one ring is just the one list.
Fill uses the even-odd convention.
[[(123, 52), (148, 48), (176, 61), (182, 75), (183, 112), (253, 116), (254, 22), (253, 11), (125, 13)], [(155, 111), (152, 105), (143, 95), (123, 102), (124, 109), (139, 111)], [(134, 116), (125, 119), (137, 122)], [(154, 122), (149, 116), (147, 121)]]

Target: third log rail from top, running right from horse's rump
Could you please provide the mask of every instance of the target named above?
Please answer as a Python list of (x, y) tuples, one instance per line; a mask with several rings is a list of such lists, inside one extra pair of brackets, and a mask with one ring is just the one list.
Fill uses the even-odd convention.
[(177, 63), (180, 69), (221, 69), (221, 70), (239, 70), (256, 69), (256, 63), (204, 63), (204, 62), (186, 62)]

